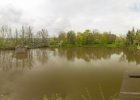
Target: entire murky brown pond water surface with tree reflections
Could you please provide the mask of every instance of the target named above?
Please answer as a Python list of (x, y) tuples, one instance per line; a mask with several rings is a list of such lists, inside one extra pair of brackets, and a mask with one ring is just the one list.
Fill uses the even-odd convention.
[(0, 100), (116, 100), (129, 70), (140, 70), (140, 51), (0, 51)]

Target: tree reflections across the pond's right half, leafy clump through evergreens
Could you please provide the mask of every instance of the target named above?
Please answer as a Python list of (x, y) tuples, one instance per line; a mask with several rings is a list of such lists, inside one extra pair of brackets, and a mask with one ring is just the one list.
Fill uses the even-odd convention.
[[(55, 51), (55, 50), (54, 50)], [(121, 55), (123, 53), (123, 55)], [(110, 59), (113, 54), (121, 55), (119, 61), (136, 62), (140, 64), (139, 50), (120, 50), (111, 48), (61, 48), (58, 49), (58, 55), (66, 57), (69, 61), (75, 58), (83, 59), (87, 62), (91, 60)]]

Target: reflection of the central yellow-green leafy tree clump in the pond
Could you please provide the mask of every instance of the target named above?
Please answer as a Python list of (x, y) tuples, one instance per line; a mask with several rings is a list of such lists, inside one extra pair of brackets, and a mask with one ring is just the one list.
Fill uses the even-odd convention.
[(89, 62), (90, 60), (109, 59), (112, 54), (119, 54), (121, 51), (108, 48), (60, 48), (58, 53), (60, 56), (66, 56), (68, 60), (73, 61), (78, 58)]

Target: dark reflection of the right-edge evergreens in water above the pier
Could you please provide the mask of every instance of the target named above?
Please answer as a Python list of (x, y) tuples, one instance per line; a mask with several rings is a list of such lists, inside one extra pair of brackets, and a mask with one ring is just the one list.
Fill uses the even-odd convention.
[(140, 64), (140, 50), (124, 50), (120, 60), (127, 60), (128, 62), (136, 62), (137, 64)]

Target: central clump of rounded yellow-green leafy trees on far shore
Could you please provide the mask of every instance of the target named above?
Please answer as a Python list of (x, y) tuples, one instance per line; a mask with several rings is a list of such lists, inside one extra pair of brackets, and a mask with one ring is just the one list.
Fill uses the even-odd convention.
[(66, 44), (77, 46), (93, 44), (114, 44), (117, 36), (110, 32), (99, 33), (97, 31), (85, 30), (84, 32), (69, 31), (59, 33), (58, 40)]

